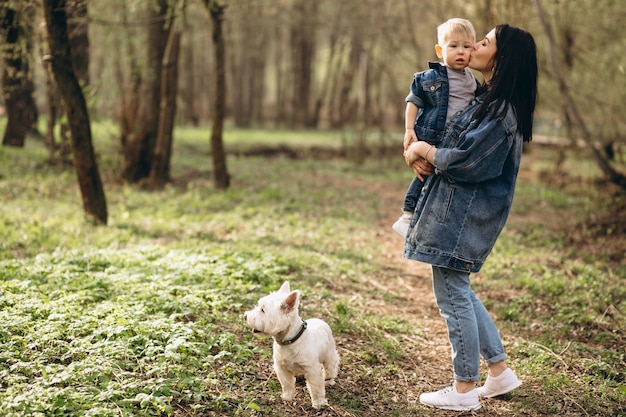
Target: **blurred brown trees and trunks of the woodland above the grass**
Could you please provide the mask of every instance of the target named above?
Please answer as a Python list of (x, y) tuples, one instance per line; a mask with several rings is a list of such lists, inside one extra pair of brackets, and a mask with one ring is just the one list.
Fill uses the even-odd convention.
[[(227, 188), (225, 122), (397, 131), (411, 76), (454, 16), (478, 38), (500, 22), (532, 32), (535, 133), (584, 147), (626, 187), (614, 165), (626, 142), (621, 0), (5, 0), (3, 144), (31, 133), (50, 162), (72, 155), (85, 211), (106, 223), (90, 121), (119, 125), (120, 177), (152, 187), (170, 180), (174, 126), (210, 125), (212, 175)], [(366, 141), (355, 142), (362, 160)]]

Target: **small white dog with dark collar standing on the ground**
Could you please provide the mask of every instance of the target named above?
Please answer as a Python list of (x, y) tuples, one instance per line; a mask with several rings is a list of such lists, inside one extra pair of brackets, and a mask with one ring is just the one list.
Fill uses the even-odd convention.
[(328, 404), (325, 383), (333, 385), (339, 368), (330, 326), (320, 319), (304, 321), (298, 313), (300, 292), (290, 291), (289, 282), (259, 300), (246, 311), (254, 333), (274, 338), (274, 370), (282, 386), (282, 399), (292, 401), (296, 376), (304, 375), (313, 408)]

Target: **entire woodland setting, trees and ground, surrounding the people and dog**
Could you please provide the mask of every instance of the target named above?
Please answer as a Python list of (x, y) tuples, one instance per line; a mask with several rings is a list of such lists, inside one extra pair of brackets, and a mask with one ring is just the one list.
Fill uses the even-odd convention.
[[(419, 404), (449, 344), (390, 227), (404, 97), (453, 16), (539, 47), (472, 278), (524, 385), (479, 413), (626, 417), (623, 0), (0, 0), (0, 414), (458, 417)], [(244, 325), (284, 280), (340, 350), (325, 410), (280, 401)]]

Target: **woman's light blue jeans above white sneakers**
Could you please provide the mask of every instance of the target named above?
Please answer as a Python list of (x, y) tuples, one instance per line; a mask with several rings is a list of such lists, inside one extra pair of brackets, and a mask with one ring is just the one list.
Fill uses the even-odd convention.
[(433, 291), (446, 320), (454, 379), (480, 380), (480, 356), (490, 365), (507, 358), (498, 329), (470, 287), (469, 272), (432, 266)]

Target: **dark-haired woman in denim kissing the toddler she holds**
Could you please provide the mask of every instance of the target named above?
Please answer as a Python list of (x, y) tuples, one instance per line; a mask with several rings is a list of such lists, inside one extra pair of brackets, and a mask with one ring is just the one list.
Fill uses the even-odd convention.
[[(484, 77), (478, 96), (447, 127), (442, 144), (413, 143), (405, 152), (416, 175), (430, 175), (415, 209), (404, 257), (432, 265), (433, 290), (452, 346), (454, 383), (420, 401), (476, 410), (479, 397), (521, 385), (506, 365), (498, 330), (470, 286), (502, 231), (513, 201), (522, 142), (532, 138), (537, 53), (532, 35), (498, 25), (469, 63)], [(434, 172), (434, 173), (433, 173)], [(480, 356), (488, 367), (480, 380)]]

